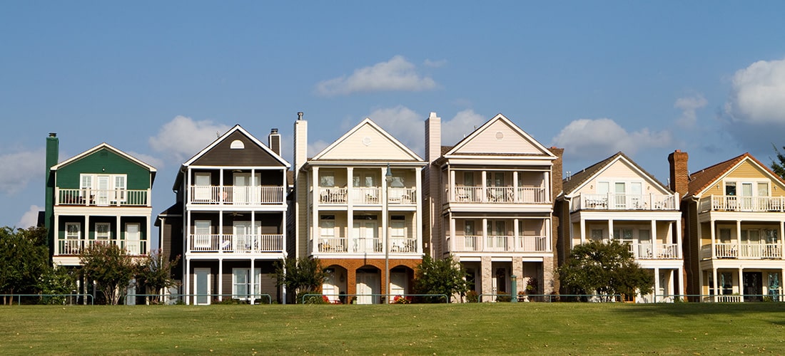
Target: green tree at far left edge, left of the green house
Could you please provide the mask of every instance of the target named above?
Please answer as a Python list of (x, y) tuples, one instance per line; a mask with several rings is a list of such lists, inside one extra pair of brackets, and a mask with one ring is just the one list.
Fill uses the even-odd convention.
[[(38, 279), (49, 268), (46, 228), (0, 228), (0, 293), (38, 293)], [(11, 298), (3, 297), (3, 304)]]

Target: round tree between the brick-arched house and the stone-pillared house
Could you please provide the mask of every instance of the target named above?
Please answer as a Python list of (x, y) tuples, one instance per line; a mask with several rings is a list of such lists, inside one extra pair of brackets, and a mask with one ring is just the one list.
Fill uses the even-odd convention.
[[(425, 255), (414, 272), (414, 291), (418, 294), (446, 294), (449, 303), (454, 294), (463, 294), (468, 290), (466, 271), (452, 256), (438, 260)], [(441, 297), (425, 298), (431, 302), (440, 299)]]

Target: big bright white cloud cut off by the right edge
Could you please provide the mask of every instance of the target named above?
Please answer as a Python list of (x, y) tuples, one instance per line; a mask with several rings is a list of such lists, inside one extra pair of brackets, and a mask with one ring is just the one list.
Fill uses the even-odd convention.
[(785, 124), (785, 59), (761, 60), (736, 71), (725, 113), (749, 124)]

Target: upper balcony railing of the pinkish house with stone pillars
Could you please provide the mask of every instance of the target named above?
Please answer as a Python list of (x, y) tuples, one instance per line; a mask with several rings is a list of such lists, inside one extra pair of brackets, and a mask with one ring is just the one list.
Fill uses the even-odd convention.
[(453, 203), (548, 203), (540, 187), (462, 187), (453, 188)]

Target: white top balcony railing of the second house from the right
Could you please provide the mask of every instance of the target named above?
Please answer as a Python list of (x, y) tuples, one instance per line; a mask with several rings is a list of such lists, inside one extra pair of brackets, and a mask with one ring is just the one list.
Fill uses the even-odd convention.
[(577, 210), (677, 210), (677, 196), (663, 194), (580, 194), (573, 199)]

